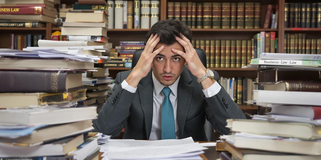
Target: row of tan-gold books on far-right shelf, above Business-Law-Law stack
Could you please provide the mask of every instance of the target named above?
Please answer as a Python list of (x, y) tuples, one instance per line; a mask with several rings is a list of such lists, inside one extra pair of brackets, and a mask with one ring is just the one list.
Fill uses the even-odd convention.
[(321, 54), (321, 39), (309, 39), (306, 34), (285, 34), (284, 53)]

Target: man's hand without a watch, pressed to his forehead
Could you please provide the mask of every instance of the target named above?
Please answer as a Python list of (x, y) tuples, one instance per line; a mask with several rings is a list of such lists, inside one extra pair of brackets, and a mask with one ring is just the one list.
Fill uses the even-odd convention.
[(126, 78), (126, 82), (128, 85), (132, 87), (137, 87), (139, 81), (147, 76), (149, 71), (152, 68), (152, 62), (154, 57), (160, 53), (163, 49), (164, 46), (161, 46), (159, 49), (154, 50), (155, 46), (158, 44), (160, 41), (160, 37), (156, 34), (155, 36), (152, 34), (144, 48), (144, 51), (141, 54), (141, 57), (139, 58), (136, 66), (133, 68), (133, 71), (128, 75)]

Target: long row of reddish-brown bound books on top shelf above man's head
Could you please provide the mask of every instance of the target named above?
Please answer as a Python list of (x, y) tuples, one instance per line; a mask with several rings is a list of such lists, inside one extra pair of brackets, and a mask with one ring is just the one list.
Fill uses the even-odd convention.
[[(268, 5), (263, 28), (277, 28), (278, 6)], [(261, 28), (261, 3), (168, 2), (167, 19), (190, 28)]]

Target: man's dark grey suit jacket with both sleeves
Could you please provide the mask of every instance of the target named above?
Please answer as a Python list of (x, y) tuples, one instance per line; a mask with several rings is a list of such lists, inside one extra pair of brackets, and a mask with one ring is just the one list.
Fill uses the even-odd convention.
[[(125, 127), (124, 139), (148, 140), (152, 129), (153, 81), (152, 71), (138, 84), (135, 93), (122, 89), (121, 83), (129, 71), (119, 72), (112, 94), (93, 121), (95, 129), (116, 137)], [(219, 75), (215, 73), (218, 82)], [(218, 94), (205, 98), (201, 84), (185, 66), (178, 83), (177, 122), (179, 138), (192, 137), (196, 141), (206, 141), (205, 117), (216, 132), (230, 133), (225, 128), (226, 119), (244, 119), (245, 116), (230, 95), (221, 87)]]

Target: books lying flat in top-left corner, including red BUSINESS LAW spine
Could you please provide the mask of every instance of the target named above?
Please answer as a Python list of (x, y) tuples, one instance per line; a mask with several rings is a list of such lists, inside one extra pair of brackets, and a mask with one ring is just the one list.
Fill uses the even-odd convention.
[(56, 24), (56, 4), (60, 0), (2, 0), (0, 20), (2, 27), (46, 27), (44, 23)]

